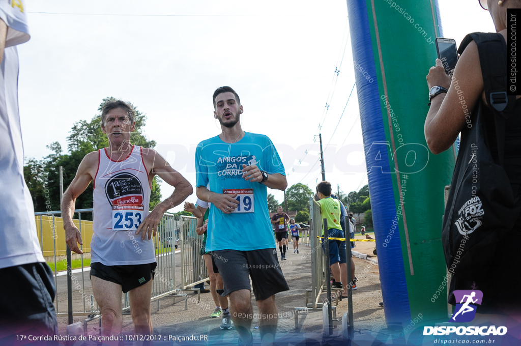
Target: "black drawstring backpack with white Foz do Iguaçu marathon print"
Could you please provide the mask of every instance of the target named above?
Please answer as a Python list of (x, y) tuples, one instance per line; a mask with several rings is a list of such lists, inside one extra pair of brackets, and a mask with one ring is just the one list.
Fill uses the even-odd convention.
[(460, 151), (443, 215), (442, 243), (450, 273), (466, 280), (489, 275), (496, 248), (512, 230), (521, 210), (503, 165), (505, 119), (515, 104), (506, 94), (506, 44), (501, 34), (472, 33), (478, 46), (486, 100), (494, 115), (499, 164), (494, 163), (485, 125), (486, 106), (479, 101), (471, 126), (462, 132)]

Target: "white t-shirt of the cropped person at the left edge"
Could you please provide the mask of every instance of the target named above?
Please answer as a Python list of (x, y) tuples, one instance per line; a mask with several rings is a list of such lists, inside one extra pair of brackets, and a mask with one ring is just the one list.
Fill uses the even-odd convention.
[(29, 40), (26, 8), (19, 0), (0, 2), (8, 26), (0, 65), (0, 268), (44, 262), (34, 207), (23, 179), (23, 145), (18, 114), (18, 52)]

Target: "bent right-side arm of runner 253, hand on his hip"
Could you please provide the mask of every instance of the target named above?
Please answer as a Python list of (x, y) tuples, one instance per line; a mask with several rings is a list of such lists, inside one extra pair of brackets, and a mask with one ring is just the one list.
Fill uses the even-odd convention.
[(135, 232), (136, 234), (141, 232), (142, 240), (145, 239), (146, 236), (148, 236), (148, 239), (150, 240), (152, 238), (152, 233), (155, 236), (157, 225), (159, 225), (159, 221), (163, 218), (163, 214), (168, 209), (181, 204), (181, 202), (193, 193), (193, 189), (188, 180), (178, 171), (173, 169), (167, 160), (165, 160), (163, 156), (159, 155), (155, 150), (143, 150), (143, 158), (147, 167), (151, 167), (151, 171), (148, 174), (149, 177), (158, 175), (166, 183), (175, 188), (173, 193), (166, 200), (156, 205), (154, 210), (145, 217)]

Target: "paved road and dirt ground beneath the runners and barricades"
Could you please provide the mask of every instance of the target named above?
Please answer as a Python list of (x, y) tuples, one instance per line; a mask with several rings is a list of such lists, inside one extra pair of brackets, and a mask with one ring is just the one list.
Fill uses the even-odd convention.
[[(365, 237), (364, 237), (365, 238)], [(357, 242), (354, 249), (356, 253), (370, 254), (368, 259), (353, 257), (355, 262), (356, 276), (358, 278), (358, 289), (353, 291), (353, 325), (356, 335), (378, 335), (379, 333), (390, 334), (387, 329), (383, 307), (379, 305), (382, 301), (380, 280), (378, 273), (377, 258), (373, 255), (374, 243)], [(322, 311), (298, 311), (295, 308), (306, 307), (305, 292), (311, 288), (311, 251), (308, 245), (301, 244), (300, 254), (294, 254), (291, 250), (287, 254), (287, 261), (281, 262), (281, 268), (284, 273), (289, 291), (281, 292), (276, 295), (278, 307), (278, 328), (276, 341), (280, 344), (288, 344), (297, 342), (298, 340), (307, 340), (305, 344), (324, 344), (324, 321)], [(355, 253), (355, 254), (356, 254)], [(362, 255), (363, 257), (366, 257)], [(176, 267), (180, 266), (180, 261), (176, 259)], [(179, 269), (179, 268), (177, 268)], [(81, 275), (77, 276), (81, 280)], [(65, 285), (65, 278), (60, 278), (61, 285)], [(60, 286), (60, 283), (59, 283)], [(84, 288), (84, 299), (87, 310), (90, 306), (90, 280), (88, 273), (85, 281), (82, 282)], [(209, 287), (209, 285), (207, 285)], [(63, 291), (63, 286), (60, 289)], [(192, 291), (182, 291), (187, 294), (188, 310), (185, 310), (184, 297), (166, 296), (158, 301), (153, 301), (152, 323), (154, 333), (161, 335), (161, 341), (167, 344), (176, 344), (180, 342), (176, 338), (179, 336), (206, 336), (206, 341), (201, 344), (237, 344), (237, 331), (235, 328), (231, 330), (221, 330), (219, 328), (221, 319), (210, 318), (209, 315), (214, 311), (215, 304), (210, 293), (201, 294), (201, 301), (197, 300), (197, 294)], [(334, 294), (334, 292), (333, 292)], [(326, 301), (326, 293), (322, 293), (319, 302)], [(79, 292), (75, 292), (75, 306), (82, 305), (82, 297)], [(60, 311), (67, 311), (66, 295), (59, 295), (58, 302)], [(258, 332), (258, 313), (257, 306), (252, 294), (252, 304), (254, 309), (254, 320), (252, 323), (252, 333), (254, 342), (260, 342)], [(331, 340), (341, 341), (342, 333), (342, 316), (348, 312), (348, 300), (333, 301), (336, 307), (336, 315), (338, 322), (333, 323), (333, 335)], [(298, 317), (298, 326), (295, 328), (295, 313)], [(77, 316), (74, 322), (82, 322), (86, 316)], [(65, 334), (68, 324), (66, 316), (58, 317), (59, 333)], [(94, 319), (88, 323), (87, 332), (89, 334), (97, 334), (99, 329), (99, 319)], [(345, 328), (344, 328), (345, 330)], [(123, 316), (123, 332), (129, 335), (133, 331), (132, 319), (130, 315)], [(311, 339), (310, 339), (311, 338)], [(172, 339), (176, 339), (173, 340)], [(203, 338), (204, 339), (204, 338)], [(320, 340), (319, 340), (320, 339)], [(287, 341), (287, 342), (286, 342)], [(316, 342), (315, 342), (316, 341)], [(331, 342), (327, 342), (332, 344)], [(190, 344), (198, 344), (192, 341)]]

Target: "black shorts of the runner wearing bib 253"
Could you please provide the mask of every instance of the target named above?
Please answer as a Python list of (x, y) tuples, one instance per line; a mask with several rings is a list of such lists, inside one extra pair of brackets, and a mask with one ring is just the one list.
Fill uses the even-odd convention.
[(154, 278), (157, 263), (106, 266), (100, 262), (91, 263), (90, 276), (121, 285), (123, 293), (133, 290)]

